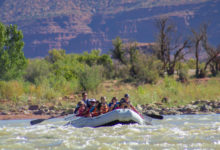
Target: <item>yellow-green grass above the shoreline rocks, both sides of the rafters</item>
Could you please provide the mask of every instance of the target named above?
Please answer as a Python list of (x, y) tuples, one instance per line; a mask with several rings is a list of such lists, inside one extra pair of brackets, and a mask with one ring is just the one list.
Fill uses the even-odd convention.
[[(195, 100), (220, 100), (219, 91), (220, 78), (192, 79), (189, 83), (182, 84), (173, 78), (166, 77), (155, 85), (141, 86), (122, 83), (119, 80), (109, 80), (103, 82), (96, 91), (89, 92), (89, 98), (100, 99), (101, 96), (106, 96), (110, 101), (113, 96), (120, 99), (125, 93), (129, 93), (132, 103), (136, 105), (161, 102), (166, 97), (169, 101), (166, 105), (172, 107), (185, 105)], [(73, 94), (75, 94), (73, 100), (62, 100), (62, 97)], [(80, 93), (74, 93), (70, 84), (54, 89), (46, 85), (36, 86), (21, 81), (1, 81), (0, 99), (7, 101), (7, 103), (0, 104), (1, 109), (9, 109), (7, 107), (11, 105), (8, 103), (15, 104), (16, 107), (28, 104), (52, 104), (62, 106), (60, 108), (71, 108), (74, 107), (73, 103), (79, 101), (81, 97)]]

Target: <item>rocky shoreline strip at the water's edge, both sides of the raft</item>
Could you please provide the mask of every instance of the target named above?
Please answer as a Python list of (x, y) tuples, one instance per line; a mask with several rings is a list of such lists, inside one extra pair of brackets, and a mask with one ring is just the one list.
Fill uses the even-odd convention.
[[(220, 114), (220, 102), (214, 100), (198, 100), (178, 107), (166, 107), (164, 103), (137, 105), (137, 109), (144, 114), (155, 115)], [(4, 112), (0, 110), (0, 120), (47, 119), (72, 114), (73, 111), (74, 109), (58, 110), (56, 107), (51, 106), (30, 105), (28, 109), (23, 108), (17, 112)]]

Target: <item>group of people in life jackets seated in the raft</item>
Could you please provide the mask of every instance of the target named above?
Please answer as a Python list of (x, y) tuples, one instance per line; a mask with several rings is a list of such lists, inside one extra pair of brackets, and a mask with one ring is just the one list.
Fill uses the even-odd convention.
[(131, 109), (141, 116), (141, 114), (130, 103), (128, 94), (125, 94), (124, 97), (121, 98), (120, 102), (118, 102), (116, 97), (113, 97), (109, 104), (107, 104), (106, 97), (104, 96), (100, 98), (100, 101), (95, 99), (87, 99), (87, 93), (83, 92), (82, 97), (82, 101), (78, 102), (74, 111), (76, 116), (95, 117), (115, 109), (125, 108)]

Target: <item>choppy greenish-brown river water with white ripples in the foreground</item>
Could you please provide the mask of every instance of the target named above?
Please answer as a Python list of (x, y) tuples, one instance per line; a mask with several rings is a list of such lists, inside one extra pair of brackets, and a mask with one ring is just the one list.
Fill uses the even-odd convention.
[(177, 115), (153, 125), (101, 128), (64, 126), (63, 119), (38, 125), (0, 121), (0, 149), (220, 149), (220, 115)]

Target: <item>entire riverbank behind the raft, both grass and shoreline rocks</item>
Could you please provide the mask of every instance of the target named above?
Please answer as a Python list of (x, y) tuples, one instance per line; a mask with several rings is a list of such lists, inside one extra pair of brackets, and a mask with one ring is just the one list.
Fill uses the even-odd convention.
[[(125, 93), (140, 112), (160, 115), (218, 114), (220, 113), (220, 78), (192, 79), (187, 84), (165, 78), (155, 85), (135, 85), (120, 80), (103, 82), (89, 98), (113, 96), (118, 100)], [(71, 93), (53, 99), (23, 95), (20, 99), (0, 99), (0, 119), (50, 118), (72, 114), (81, 100), (81, 93)], [(194, 101), (193, 101), (194, 100)]]

